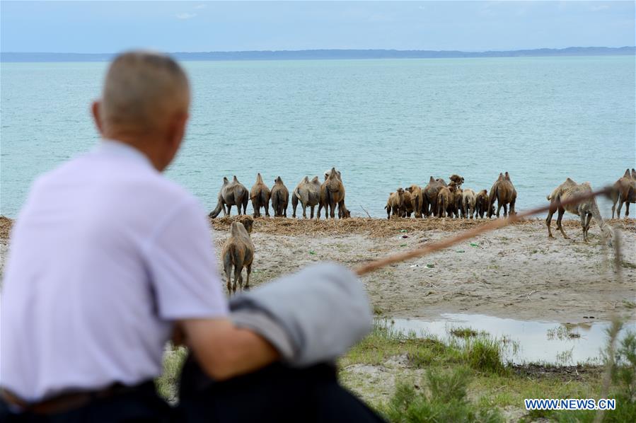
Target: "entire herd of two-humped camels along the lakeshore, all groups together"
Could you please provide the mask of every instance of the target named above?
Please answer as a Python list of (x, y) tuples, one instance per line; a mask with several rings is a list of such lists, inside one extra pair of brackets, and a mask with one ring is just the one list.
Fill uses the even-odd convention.
[[(385, 207), (388, 219), (391, 219), (391, 216), (410, 217), (412, 214), (416, 218), (424, 216), (448, 216), (464, 219), (487, 216), (490, 218), (494, 214), (499, 217), (502, 208), (504, 216), (507, 216), (508, 213), (516, 213), (514, 210), (516, 190), (508, 172), (499, 173), (499, 178), (495, 180), (490, 192), (488, 190), (475, 192), (470, 188), (462, 188), (464, 178), (460, 175), (451, 175), (449, 180), (450, 182), (446, 184), (444, 179), (436, 179), (431, 176), (428, 185), (424, 188), (411, 185), (406, 189), (400, 187), (395, 192), (391, 192)], [(636, 170), (632, 168), (631, 173), (629, 169), (625, 170), (625, 174), (615, 182), (614, 187), (612, 217), (616, 210), (620, 218), (620, 209), (623, 204), (626, 204), (625, 217), (627, 217), (630, 203), (636, 202)], [(568, 238), (562, 226), (563, 215), (568, 212), (580, 217), (584, 242), (589, 241), (589, 226), (591, 220), (594, 219), (601, 229), (601, 237), (608, 245), (611, 245), (614, 237), (613, 228), (603, 221), (594, 197), (582, 202), (567, 204), (569, 199), (588, 194), (591, 190), (589, 182), (579, 184), (567, 178), (548, 195), (550, 211), (545, 219), (545, 224), (548, 226), (550, 238), (553, 238), (551, 223), (555, 213), (557, 213), (557, 229), (564, 238)], [(260, 209), (262, 208), (265, 209), (265, 215), (270, 216), (270, 200), (274, 216), (285, 217), (289, 204), (289, 190), (280, 177), (274, 180), (274, 185), (270, 189), (263, 182), (260, 173), (256, 176), (256, 182), (249, 193), (241, 182), (238, 182), (236, 176), (232, 182), (224, 178), (223, 186), (219, 192), (219, 203), (210, 216), (213, 218), (218, 216), (221, 210), (224, 214), (230, 214), (233, 205), (236, 205), (238, 214), (247, 214), (248, 200), (252, 201), (255, 217), (261, 216)], [(497, 202), (496, 212), (495, 201)], [(305, 218), (307, 217), (306, 209), (309, 207), (313, 219), (316, 206), (318, 206), (318, 219), (320, 219), (320, 209), (322, 208), (325, 208), (325, 215), (331, 216), (332, 219), (335, 217), (336, 208), (340, 218), (350, 216), (347, 207), (345, 207), (345, 187), (342, 184), (342, 177), (340, 171), (335, 168), (325, 172), (325, 180), (322, 183), (318, 180), (318, 176), (312, 180), (309, 180), (307, 176), (303, 178), (291, 192), (294, 217), (296, 217), (296, 207), (299, 203), (303, 208), (303, 217)], [(566, 203), (565, 206), (563, 203)], [(617, 203), (618, 209), (616, 208)], [(252, 226), (253, 218), (250, 216), (243, 216), (239, 221), (233, 222), (229, 229), (230, 236), (221, 250), (221, 260), (230, 294), (236, 293), (237, 289), (248, 289), (250, 285), (250, 273), (254, 259), (254, 244), (250, 238)], [(245, 284), (243, 284), (243, 268), (247, 271)]]

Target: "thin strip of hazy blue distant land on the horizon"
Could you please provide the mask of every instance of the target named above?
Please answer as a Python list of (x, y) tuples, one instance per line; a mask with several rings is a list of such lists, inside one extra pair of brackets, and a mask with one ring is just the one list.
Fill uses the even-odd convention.
[[(635, 55), (636, 47), (567, 47), (564, 49), (462, 52), (456, 50), (264, 50), (245, 52), (173, 52), (183, 61), (452, 59), (473, 57), (573, 57)], [(115, 53), (0, 52), (0, 62), (108, 62)]]

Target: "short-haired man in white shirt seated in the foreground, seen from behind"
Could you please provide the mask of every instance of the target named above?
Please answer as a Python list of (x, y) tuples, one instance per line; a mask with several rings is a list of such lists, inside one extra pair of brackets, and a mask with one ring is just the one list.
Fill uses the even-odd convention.
[[(302, 282), (316, 292), (352, 289), (359, 303), (364, 294), (349, 270), (305, 270), (288, 278), (302, 281), (280, 281), (239, 301), (231, 318), (204, 209), (161, 175), (180, 147), (189, 106), (187, 76), (176, 62), (122, 54), (93, 104), (100, 145), (34, 183), (11, 234), (4, 278), (2, 421), (175, 418), (152, 383), (175, 326), (193, 356), (178, 419), (292, 421), (299, 415), (290, 412), (303, 409), (303, 420), (333, 421), (330, 407), (348, 421), (377, 419), (319, 364), (368, 330), (366, 301), (366, 311), (333, 329), (329, 348), (303, 344), (305, 333), (284, 328), (311, 335), (333, 327), (330, 315), (347, 311), (339, 295), (310, 301), (309, 316), (295, 299), (272, 302), (277, 289)], [(315, 293), (296, 294), (306, 307)], [(286, 410), (276, 396), (296, 403)]]

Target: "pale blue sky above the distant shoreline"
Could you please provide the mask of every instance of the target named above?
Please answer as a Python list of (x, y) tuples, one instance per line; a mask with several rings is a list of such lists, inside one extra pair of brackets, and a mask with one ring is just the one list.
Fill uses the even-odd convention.
[(635, 45), (633, 1), (0, 1), (0, 51)]

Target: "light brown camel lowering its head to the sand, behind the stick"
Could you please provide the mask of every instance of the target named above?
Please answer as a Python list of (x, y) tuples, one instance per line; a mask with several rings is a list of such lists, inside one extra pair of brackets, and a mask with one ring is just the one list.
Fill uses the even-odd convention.
[(563, 207), (562, 202), (569, 201), (581, 195), (589, 194), (592, 191), (589, 182), (583, 182), (582, 184), (577, 184), (570, 178), (567, 178), (565, 182), (555, 188), (552, 194), (548, 195), (548, 199), (550, 200), (550, 211), (548, 212), (548, 217), (545, 219), (545, 224), (548, 226), (548, 236), (550, 238), (554, 238), (552, 235), (552, 228), (550, 224), (552, 223), (552, 216), (555, 212), (559, 212), (557, 216), (557, 229), (561, 231), (563, 238), (568, 238), (563, 231), (563, 226), (561, 221), (563, 219), (563, 214), (565, 212), (569, 212), (572, 214), (576, 214), (581, 218), (581, 226), (583, 228), (583, 241), (589, 241), (589, 225), (591, 223), (591, 219), (596, 221), (596, 224), (601, 228), (601, 236), (608, 243), (608, 245), (612, 244), (613, 238), (613, 229), (611, 226), (603, 221), (603, 217), (601, 217), (601, 212), (599, 212), (599, 206), (596, 205), (596, 199), (591, 197), (577, 204), (568, 204)]

